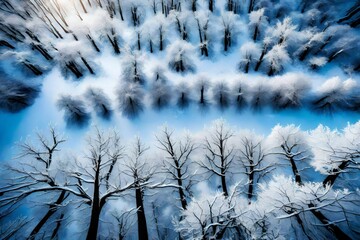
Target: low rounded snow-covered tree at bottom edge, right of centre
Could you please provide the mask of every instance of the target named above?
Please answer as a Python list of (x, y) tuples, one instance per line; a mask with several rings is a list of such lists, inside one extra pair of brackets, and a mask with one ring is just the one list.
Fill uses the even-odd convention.
[(239, 221), (244, 209), (238, 207), (243, 204), (238, 200), (236, 186), (229, 197), (219, 192), (204, 192), (182, 211), (175, 229), (186, 239), (245, 239), (247, 234)]

